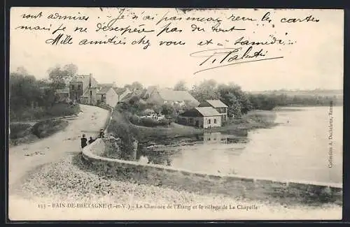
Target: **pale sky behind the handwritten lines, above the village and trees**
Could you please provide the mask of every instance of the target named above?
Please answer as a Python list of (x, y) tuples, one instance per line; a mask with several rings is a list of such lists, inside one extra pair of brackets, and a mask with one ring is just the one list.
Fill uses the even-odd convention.
[[(41, 17), (22, 18), (23, 14)], [(272, 22), (261, 22), (260, 18), (270, 12)], [(85, 15), (88, 20), (53, 20), (48, 19), (51, 13), (59, 15)], [(182, 20), (162, 20), (166, 17), (181, 17)], [(147, 33), (151, 45), (146, 50), (145, 45), (130, 45), (139, 41), (144, 34), (121, 35), (120, 31), (96, 31), (97, 23), (106, 24), (120, 15), (118, 8), (11, 8), (10, 12), (10, 71), (23, 66), (36, 78), (46, 78), (48, 68), (76, 64), (79, 74), (92, 73), (98, 82), (116, 82), (122, 87), (134, 81), (145, 86), (160, 85), (173, 87), (179, 80), (185, 80), (188, 87), (203, 80), (214, 79), (219, 83), (235, 82), (246, 91), (262, 91), (270, 89), (342, 89), (343, 88), (343, 30), (344, 13), (342, 10), (268, 10), (268, 9), (225, 9), (225, 10), (193, 10), (183, 13), (170, 8), (127, 8), (123, 11), (124, 19), (117, 20), (114, 27), (137, 27), (144, 24), (155, 33)], [(139, 15), (137, 20), (130, 19)], [(145, 15), (155, 17), (155, 20), (141, 20)], [(250, 17), (255, 21), (228, 18)], [(319, 22), (281, 23), (282, 18), (301, 18), (312, 15)], [(228, 29), (235, 26), (237, 31), (213, 32), (211, 27), (216, 22), (190, 22), (186, 17), (219, 18), (220, 27)], [(232, 19), (232, 17), (230, 18)], [(165, 25), (172, 22), (172, 28), (177, 27), (182, 32), (163, 32), (156, 34)], [(50, 27), (51, 24), (51, 27)], [(60, 31), (52, 32), (59, 25), (66, 27), (64, 34), (73, 37), (71, 45), (51, 45), (45, 43), (55, 38)], [(195, 24), (205, 31), (191, 31)], [(20, 26), (50, 27), (50, 31), (16, 29)], [(74, 32), (73, 28), (87, 27), (87, 33)], [(106, 40), (116, 35), (129, 45), (78, 45), (83, 39)], [(293, 45), (262, 45), (254, 46), (253, 50), (263, 48), (267, 57), (283, 57), (281, 59), (255, 61), (248, 64), (235, 64), (214, 68), (201, 73), (196, 71), (218, 66), (207, 61), (199, 64), (206, 57), (191, 57), (190, 54), (213, 48), (232, 48), (238, 38), (244, 36), (249, 41), (271, 41), (272, 35), (281, 38), (285, 43)], [(200, 41), (213, 40), (214, 45), (199, 46)], [(160, 47), (160, 41), (183, 41), (186, 45), (170, 45)], [(216, 45), (222, 43), (222, 46)], [(246, 46), (242, 46), (247, 48)], [(246, 49), (244, 49), (246, 50)], [(205, 55), (205, 54), (204, 54)], [(218, 59), (221, 56), (218, 57)], [(216, 61), (217, 62), (217, 61)]]

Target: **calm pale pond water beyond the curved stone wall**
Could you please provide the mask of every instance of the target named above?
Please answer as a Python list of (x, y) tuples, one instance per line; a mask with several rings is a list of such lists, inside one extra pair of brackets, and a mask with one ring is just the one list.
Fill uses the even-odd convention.
[[(169, 138), (137, 159), (205, 173), (342, 182), (342, 107), (283, 108), (271, 129), (246, 137), (205, 133)], [(330, 145), (332, 142), (332, 145)]]

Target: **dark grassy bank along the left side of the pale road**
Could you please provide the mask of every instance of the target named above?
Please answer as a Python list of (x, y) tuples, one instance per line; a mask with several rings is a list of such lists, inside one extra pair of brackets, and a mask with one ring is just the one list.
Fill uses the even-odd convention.
[(51, 136), (58, 131), (62, 131), (68, 126), (68, 122), (57, 117), (76, 115), (80, 112), (79, 105), (69, 106), (65, 104), (55, 105), (55, 108), (45, 113), (45, 115), (33, 115), (32, 122), (15, 122), (18, 119), (11, 119), (9, 145), (20, 145)]

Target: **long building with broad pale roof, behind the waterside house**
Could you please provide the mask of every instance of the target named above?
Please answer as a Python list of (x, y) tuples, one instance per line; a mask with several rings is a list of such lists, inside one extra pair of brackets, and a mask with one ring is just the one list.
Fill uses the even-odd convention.
[(200, 104), (188, 91), (174, 91), (172, 89), (153, 89), (146, 100), (148, 103), (157, 105), (179, 104), (196, 107)]

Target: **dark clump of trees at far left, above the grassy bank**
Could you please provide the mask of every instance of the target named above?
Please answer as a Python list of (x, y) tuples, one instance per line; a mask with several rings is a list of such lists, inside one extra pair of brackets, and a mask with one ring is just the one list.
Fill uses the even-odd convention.
[[(56, 89), (64, 87), (64, 78), (69, 76), (73, 65), (63, 69), (50, 68), (49, 77), (36, 80), (25, 68), (18, 68), (10, 73), (10, 121), (26, 121), (73, 115), (78, 112), (78, 106), (57, 104)], [(71, 73), (72, 74), (72, 73)]]

